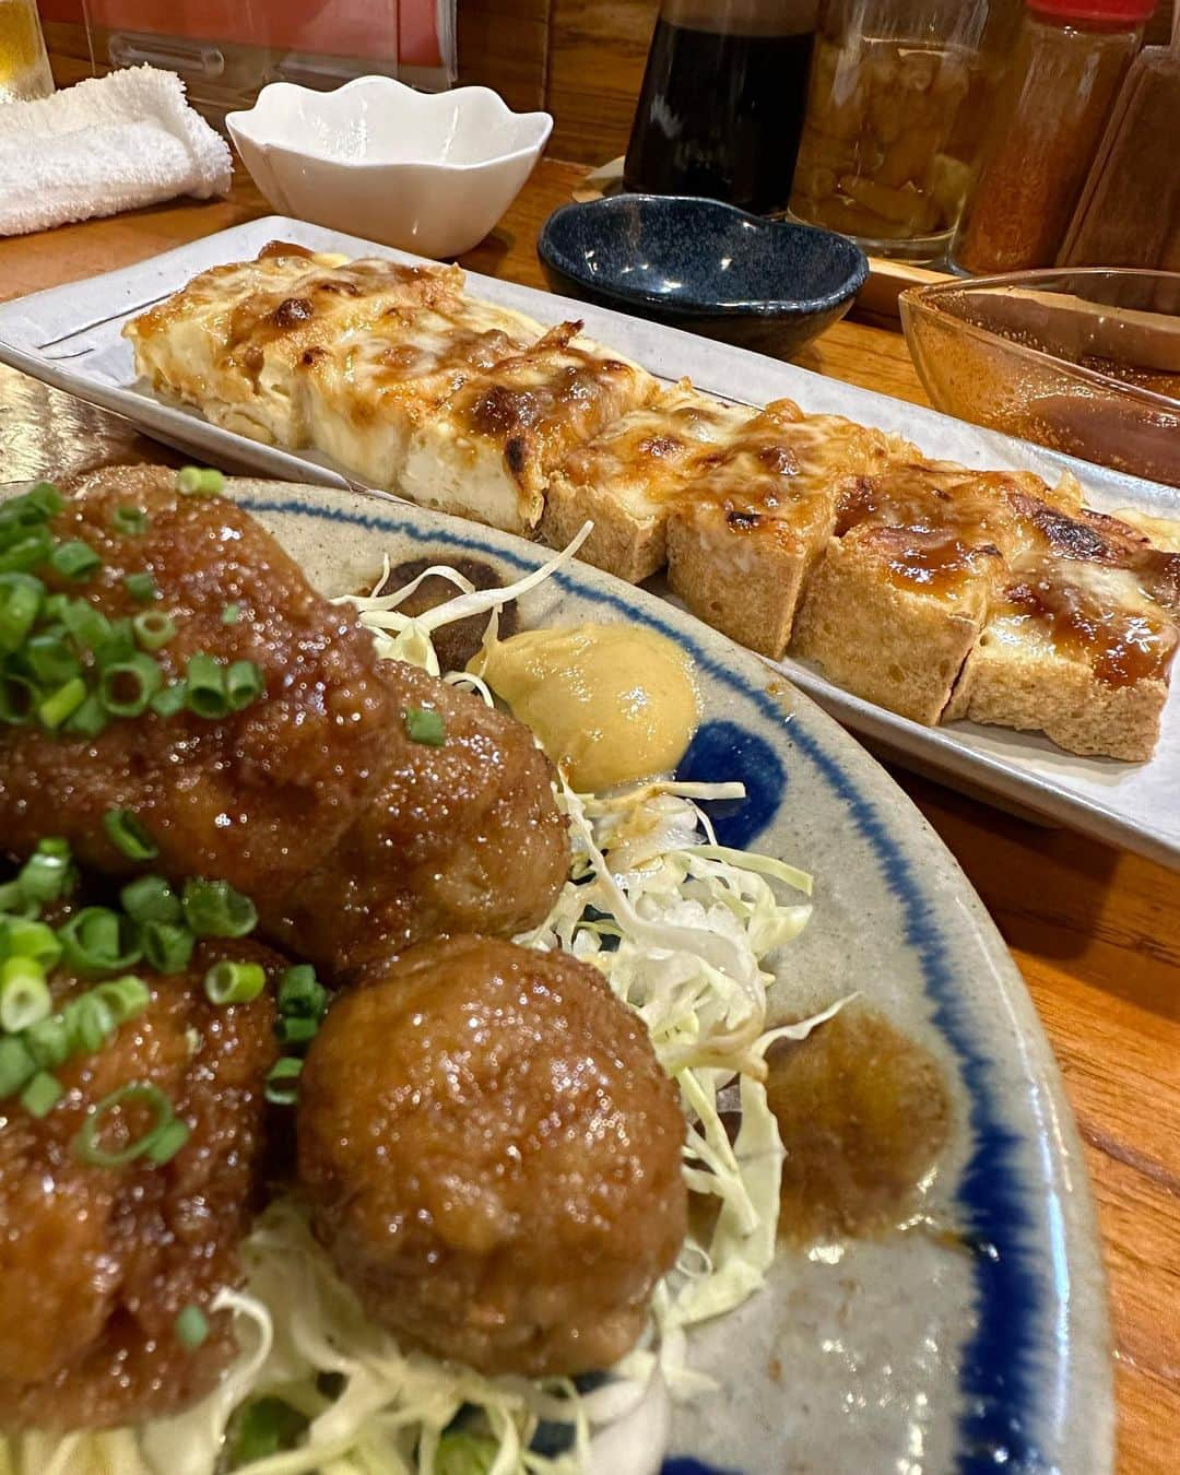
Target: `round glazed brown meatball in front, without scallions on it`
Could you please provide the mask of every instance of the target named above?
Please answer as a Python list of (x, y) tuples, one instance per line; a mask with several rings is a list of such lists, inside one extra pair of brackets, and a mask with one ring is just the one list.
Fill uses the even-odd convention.
[(684, 1236), (684, 1118), (589, 965), (476, 937), (338, 999), (299, 1089), (314, 1227), (369, 1316), (488, 1373), (636, 1341)]

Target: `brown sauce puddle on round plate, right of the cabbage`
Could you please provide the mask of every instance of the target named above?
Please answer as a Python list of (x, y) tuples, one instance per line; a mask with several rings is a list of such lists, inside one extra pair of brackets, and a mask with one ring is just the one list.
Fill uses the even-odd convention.
[(934, 1056), (851, 1003), (807, 1040), (774, 1046), (768, 1065), (786, 1149), (779, 1233), (814, 1243), (909, 1218), (953, 1125)]

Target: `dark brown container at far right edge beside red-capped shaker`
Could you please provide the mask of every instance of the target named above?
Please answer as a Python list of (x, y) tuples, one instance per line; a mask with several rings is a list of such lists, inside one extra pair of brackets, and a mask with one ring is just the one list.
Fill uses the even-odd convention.
[(1058, 261), (1180, 271), (1180, 4), (1171, 46), (1131, 62)]

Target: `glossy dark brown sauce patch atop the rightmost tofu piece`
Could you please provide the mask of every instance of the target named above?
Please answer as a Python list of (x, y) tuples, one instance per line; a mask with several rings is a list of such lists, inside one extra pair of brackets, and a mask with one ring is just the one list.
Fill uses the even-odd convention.
[(1058, 650), (1089, 659), (1105, 686), (1162, 680), (1176, 653), (1177, 630), (1162, 611), (1108, 608), (1068, 583), (1061, 565), (1010, 586), (1006, 599), (1035, 620)]

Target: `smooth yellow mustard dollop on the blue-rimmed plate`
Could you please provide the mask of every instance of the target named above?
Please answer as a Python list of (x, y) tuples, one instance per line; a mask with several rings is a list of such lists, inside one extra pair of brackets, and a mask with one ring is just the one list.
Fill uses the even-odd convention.
[(692, 661), (642, 625), (525, 630), (471, 664), (581, 794), (667, 773), (698, 723)]

